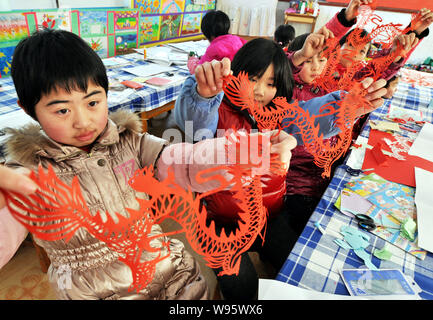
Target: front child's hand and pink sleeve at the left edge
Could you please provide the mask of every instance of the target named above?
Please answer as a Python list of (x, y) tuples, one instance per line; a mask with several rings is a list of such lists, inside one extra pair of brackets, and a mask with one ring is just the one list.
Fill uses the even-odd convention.
[[(25, 171), (24, 171), (25, 170)], [(9, 190), (29, 195), (36, 191), (38, 186), (27, 175), (29, 171), (18, 170), (0, 166), (0, 190)], [(0, 191), (0, 269), (13, 257), (21, 242), (27, 236), (24, 228), (5, 207), (5, 198)]]

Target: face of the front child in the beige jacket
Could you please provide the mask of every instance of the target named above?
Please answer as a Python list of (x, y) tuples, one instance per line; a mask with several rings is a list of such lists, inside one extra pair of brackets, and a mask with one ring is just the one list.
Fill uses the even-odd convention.
[(87, 92), (52, 90), (35, 107), (36, 117), (54, 141), (75, 147), (92, 144), (108, 121), (104, 88), (89, 82)]

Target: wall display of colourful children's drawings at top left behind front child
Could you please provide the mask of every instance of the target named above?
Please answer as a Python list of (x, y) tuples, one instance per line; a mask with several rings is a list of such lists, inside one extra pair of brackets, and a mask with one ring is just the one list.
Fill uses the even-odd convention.
[(202, 36), (204, 13), (215, 0), (133, 0), (131, 8), (38, 9), (0, 12), (0, 77), (10, 76), (18, 42), (41, 28), (82, 37), (101, 58), (132, 48)]

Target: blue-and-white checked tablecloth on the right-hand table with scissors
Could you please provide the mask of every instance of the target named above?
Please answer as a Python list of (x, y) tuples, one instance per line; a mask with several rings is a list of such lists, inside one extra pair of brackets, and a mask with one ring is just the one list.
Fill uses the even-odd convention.
[[(377, 110), (372, 112), (369, 119), (377, 119), (385, 115), (391, 104), (408, 109), (426, 108), (433, 99), (433, 87), (412, 86), (410, 83), (401, 82), (394, 97)], [(425, 119), (433, 122), (433, 110), (423, 109)], [(368, 137), (370, 126), (368, 121), (361, 132), (361, 136)], [(337, 167), (332, 180), (317, 208), (311, 215), (302, 234), (297, 240), (289, 257), (279, 271), (276, 280), (331, 294), (349, 295), (346, 286), (340, 277), (341, 269), (366, 268), (364, 262), (352, 249), (347, 250), (338, 246), (334, 239), (342, 226), (357, 227), (355, 219), (342, 214), (334, 203), (340, 195), (344, 185), (360, 176), (352, 176), (345, 163)], [(319, 222), (325, 233), (314, 225)], [(391, 260), (380, 260), (373, 256), (374, 249), (382, 249), (385, 240), (365, 231), (370, 237), (370, 245), (366, 251), (370, 253), (371, 261), (379, 269), (400, 269), (410, 276), (421, 287), (423, 299), (433, 299), (433, 254), (428, 252), (424, 260), (387, 243), (387, 249), (392, 252)]]

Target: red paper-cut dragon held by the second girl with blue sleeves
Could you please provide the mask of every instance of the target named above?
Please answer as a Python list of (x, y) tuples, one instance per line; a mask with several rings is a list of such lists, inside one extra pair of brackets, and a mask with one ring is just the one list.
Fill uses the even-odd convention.
[[(248, 109), (257, 121), (259, 129), (285, 128), (296, 125), (302, 136), (305, 148), (314, 156), (315, 164), (324, 169), (323, 177), (329, 177), (332, 164), (344, 155), (352, 142), (352, 127), (356, 118), (356, 110), (364, 108), (369, 103), (363, 98), (365, 90), (359, 83), (354, 84), (349, 93), (342, 93), (343, 99), (323, 105), (319, 115), (310, 115), (299, 107), (295, 100), (288, 103), (286, 98), (277, 97), (273, 100), (275, 107), (263, 106), (254, 101), (254, 83), (248, 80), (248, 75), (241, 72), (238, 77), (228, 76), (225, 80), (224, 93), (228, 99), (241, 109)], [(331, 143), (319, 135), (319, 127), (314, 121), (317, 117), (336, 114), (335, 125), (340, 129), (338, 138)]]

